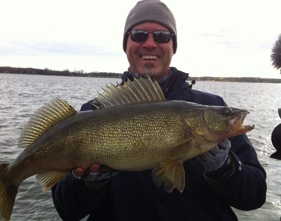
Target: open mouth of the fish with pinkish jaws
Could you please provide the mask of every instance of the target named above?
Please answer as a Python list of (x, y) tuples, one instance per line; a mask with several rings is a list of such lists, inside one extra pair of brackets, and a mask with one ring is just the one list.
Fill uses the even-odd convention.
[(249, 113), (250, 113), (250, 111), (247, 111), (247, 110), (239, 110), (239, 112), (238, 113), (236, 112), (235, 116), (233, 116), (233, 118), (230, 120), (232, 129), (233, 129), (233, 131), (238, 133), (237, 135), (247, 133), (255, 128), (254, 124), (243, 125), (244, 119), (247, 116), (247, 114), (249, 114)]

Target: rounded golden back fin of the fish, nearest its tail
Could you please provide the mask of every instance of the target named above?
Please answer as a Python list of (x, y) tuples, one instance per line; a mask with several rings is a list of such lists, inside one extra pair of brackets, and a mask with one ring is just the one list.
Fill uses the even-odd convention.
[(21, 132), (18, 146), (20, 148), (30, 146), (52, 126), (76, 113), (77, 111), (63, 99), (59, 97), (52, 99), (34, 112)]

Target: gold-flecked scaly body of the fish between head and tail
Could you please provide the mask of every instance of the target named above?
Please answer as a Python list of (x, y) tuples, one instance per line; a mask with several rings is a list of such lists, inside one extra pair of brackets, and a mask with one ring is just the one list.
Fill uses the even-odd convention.
[[(159, 166), (165, 152), (183, 140), (180, 105), (171, 103), (118, 106), (77, 113), (42, 135), (32, 144), (34, 148), (25, 149), (26, 154), (14, 164), (18, 168), (31, 167), (34, 174), (44, 168), (71, 170), (79, 166), (87, 169), (92, 162), (134, 171), (150, 169), (149, 162)], [(166, 110), (161, 111), (162, 108)], [(118, 119), (120, 113), (122, 117)], [(50, 140), (50, 136), (54, 139)], [(52, 154), (46, 155), (50, 150)], [(58, 161), (60, 164), (54, 164)], [(22, 170), (14, 171), (23, 174)]]

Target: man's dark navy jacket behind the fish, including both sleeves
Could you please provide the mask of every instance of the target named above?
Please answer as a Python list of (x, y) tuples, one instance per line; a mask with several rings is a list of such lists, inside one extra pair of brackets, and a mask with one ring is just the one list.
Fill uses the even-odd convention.
[[(204, 105), (225, 106), (217, 95), (190, 89), (185, 80), (188, 74), (171, 68), (167, 100), (184, 100)], [(165, 90), (165, 88), (164, 88)], [(81, 111), (91, 110), (90, 103)], [(185, 189), (172, 193), (157, 187), (151, 170), (121, 171), (113, 176), (110, 185), (94, 191), (83, 180), (67, 175), (52, 188), (56, 209), (63, 220), (237, 220), (230, 206), (240, 210), (257, 209), (265, 202), (265, 171), (246, 135), (230, 139), (231, 155), (236, 171), (219, 189), (205, 181), (202, 170), (192, 161), (183, 163)]]

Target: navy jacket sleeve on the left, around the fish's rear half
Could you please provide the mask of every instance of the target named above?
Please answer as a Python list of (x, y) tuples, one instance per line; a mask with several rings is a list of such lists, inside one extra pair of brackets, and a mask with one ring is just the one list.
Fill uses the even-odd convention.
[[(92, 101), (83, 104), (81, 111), (92, 110)], [(52, 197), (63, 220), (81, 220), (95, 210), (107, 191), (108, 187), (99, 191), (92, 190), (83, 180), (76, 180), (69, 174), (52, 187)]]

